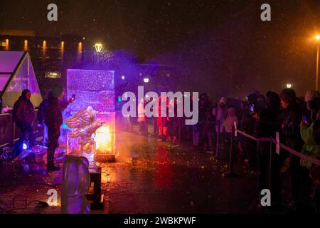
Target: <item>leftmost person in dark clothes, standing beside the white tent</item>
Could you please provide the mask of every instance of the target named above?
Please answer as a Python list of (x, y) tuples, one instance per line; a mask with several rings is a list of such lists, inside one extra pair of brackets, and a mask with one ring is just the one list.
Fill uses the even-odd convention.
[(23, 144), (27, 145), (28, 148), (33, 147), (34, 144), (32, 123), (35, 119), (35, 113), (30, 98), (30, 90), (23, 90), (20, 98), (14, 103), (13, 117), (20, 130), (19, 141), (16, 145), (18, 154), (22, 151)]

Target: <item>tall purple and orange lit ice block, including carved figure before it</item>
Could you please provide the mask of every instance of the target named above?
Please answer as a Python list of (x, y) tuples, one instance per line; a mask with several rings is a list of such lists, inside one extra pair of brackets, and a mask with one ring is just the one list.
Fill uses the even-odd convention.
[[(86, 122), (83, 128), (70, 129), (72, 131), (68, 135), (68, 155), (78, 153), (87, 157), (89, 162), (114, 161), (114, 71), (68, 70), (67, 89), (68, 98), (73, 95), (76, 97), (75, 102), (68, 107), (67, 118), (92, 121)], [(85, 118), (86, 115), (91, 115), (90, 113), (92, 116)], [(70, 125), (70, 121), (66, 123)], [(90, 135), (84, 135), (85, 133)]]

